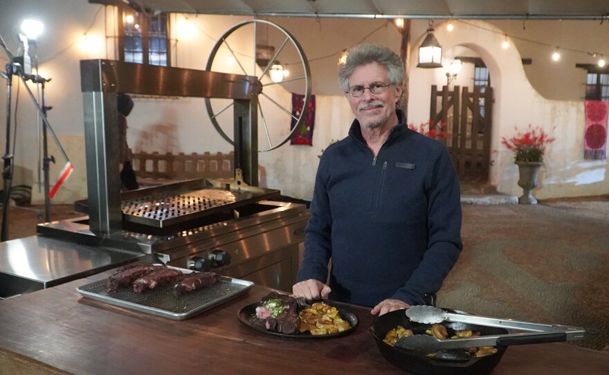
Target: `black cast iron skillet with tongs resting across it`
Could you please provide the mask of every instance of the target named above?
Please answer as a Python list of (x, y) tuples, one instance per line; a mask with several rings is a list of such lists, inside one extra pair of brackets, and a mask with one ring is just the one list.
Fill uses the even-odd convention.
[[(464, 313), (463, 311), (448, 310), (453, 313)], [(370, 326), (370, 332), (376, 340), (379, 351), (389, 363), (414, 374), (488, 374), (499, 363), (507, 347), (497, 347), (497, 353), (480, 358), (469, 356), (462, 349), (444, 351), (435, 358), (430, 358), (425, 354), (417, 353), (392, 347), (383, 341), (385, 335), (398, 325), (406, 329), (411, 329), (415, 334), (425, 333), (425, 330), (433, 324), (421, 324), (410, 322), (405, 310), (392, 311), (376, 318)], [(451, 336), (454, 331), (471, 329), (480, 331), (480, 335), (498, 335), (509, 333), (507, 329), (484, 327), (475, 324), (465, 324), (460, 322), (443, 322), (442, 325), (448, 330)]]

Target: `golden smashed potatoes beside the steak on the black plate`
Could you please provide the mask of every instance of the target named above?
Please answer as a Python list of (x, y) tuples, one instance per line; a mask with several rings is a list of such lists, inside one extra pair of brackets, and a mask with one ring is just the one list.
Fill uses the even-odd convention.
[(298, 313), (300, 316), (300, 333), (310, 331), (313, 336), (329, 335), (347, 331), (351, 324), (340, 318), (336, 307), (331, 307), (324, 302), (316, 302), (308, 309)]

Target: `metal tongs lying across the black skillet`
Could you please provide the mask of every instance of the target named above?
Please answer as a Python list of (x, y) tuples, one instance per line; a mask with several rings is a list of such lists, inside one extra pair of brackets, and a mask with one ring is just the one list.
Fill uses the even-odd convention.
[(397, 347), (416, 351), (437, 351), (469, 347), (494, 347), (507, 345), (538, 344), (566, 340), (581, 340), (585, 329), (559, 324), (540, 324), (511, 319), (489, 318), (479, 315), (448, 313), (433, 306), (412, 306), (406, 309), (406, 316), (412, 322), (435, 324), (440, 322), (461, 322), (486, 327), (516, 329), (524, 332), (501, 335), (451, 338), (439, 340), (434, 336), (413, 335), (400, 338)]

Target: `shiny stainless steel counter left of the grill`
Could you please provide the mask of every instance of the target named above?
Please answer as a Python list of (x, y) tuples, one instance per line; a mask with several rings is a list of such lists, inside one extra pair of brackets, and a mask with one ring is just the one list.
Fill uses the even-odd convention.
[(46, 289), (146, 256), (42, 236), (1, 242), (0, 298)]

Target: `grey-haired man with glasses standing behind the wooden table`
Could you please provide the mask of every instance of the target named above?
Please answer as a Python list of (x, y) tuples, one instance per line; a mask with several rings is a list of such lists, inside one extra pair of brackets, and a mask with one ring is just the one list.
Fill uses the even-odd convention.
[(451, 156), (396, 109), (404, 73), (390, 49), (351, 48), (338, 75), (356, 119), (320, 158), (293, 293), (379, 315), (429, 303), (462, 249)]

